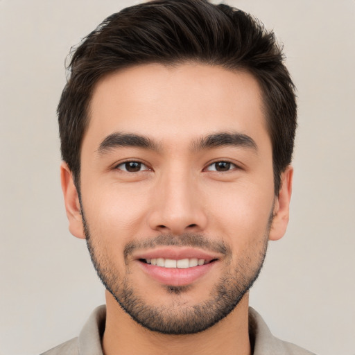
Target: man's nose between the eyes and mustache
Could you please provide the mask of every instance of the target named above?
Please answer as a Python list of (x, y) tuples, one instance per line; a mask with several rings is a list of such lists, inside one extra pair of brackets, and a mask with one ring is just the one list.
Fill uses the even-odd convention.
[(148, 223), (160, 233), (199, 233), (207, 226), (204, 198), (189, 173), (162, 176), (155, 187)]

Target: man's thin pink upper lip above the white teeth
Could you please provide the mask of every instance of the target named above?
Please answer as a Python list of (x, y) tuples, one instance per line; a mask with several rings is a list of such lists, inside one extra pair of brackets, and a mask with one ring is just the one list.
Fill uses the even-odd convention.
[(133, 257), (137, 260), (163, 258), (173, 260), (205, 259), (206, 261), (211, 261), (214, 259), (219, 259), (220, 254), (196, 248), (159, 247), (152, 250), (137, 252)]

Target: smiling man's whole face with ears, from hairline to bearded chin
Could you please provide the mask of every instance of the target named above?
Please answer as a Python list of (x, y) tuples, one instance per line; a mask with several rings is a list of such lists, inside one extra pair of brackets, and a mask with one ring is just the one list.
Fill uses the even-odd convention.
[(146, 64), (103, 78), (89, 116), (82, 214), (62, 167), (71, 232), (86, 237), (107, 290), (144, 327), (211, 327), (248, 291), (288, 217), (289, 197), (274, 195), (257, 81), (202, 64)]

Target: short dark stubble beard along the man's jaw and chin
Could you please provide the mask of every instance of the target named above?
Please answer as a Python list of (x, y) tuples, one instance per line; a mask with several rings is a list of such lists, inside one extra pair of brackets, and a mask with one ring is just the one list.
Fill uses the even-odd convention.
[[(251, 245), (250, 248), (253, 250), (247, 255), (239, 255), (238, 259), (233, 261), (232, 253), (227, 247), (225, 252), (230, 252), (232, 271), (225, 272), (218, 279), (207, 300), (187, 306), (180, 302), (179, 295), (189, 292), (191, 286), (166, 286), (166, 293), (172, 294), (173, 302), (164, 306), (152, 306), (147, 304), (135, 290), (128, 276), (130, 273), (128, 266), (126, 265), (125, 275), (121, 275), (119, 270), (116, 270), (112, 263), (110, 264), (110, 261), (107, 262), (110, 257), (102, 254), (102, 252), (100, 254), (96, 250), (83, 209), (82, 216), (87, 248), (98, 277), (107, 291), (112, 294), (123, 311), (128, 313), (141, 326), (150, 331), (171, 335), (196, 334), (204, 331), (234, 310), (259, 276), (266, 256), (268, 235), (272, 222), (272, 215), (270, 215), (263, 239), (259, 241), (259, 245)], [(158, 236), (159, 245), (162, 245), (163, 240), (169, 240), (168, 243), (164, 244), (201, 246), (200, 244), (204, 240), (203, 236), (193, 234), (185, 234), (181, 239), (176, 236), (173, 239), (167, 239), (167, 237), (166, 235)], [(198, 245), (193, 245), (193, 241), (197, 241), (196, 244)], [(152, 244), (150, 243), (150, 245)], [(125, 248), (125, 250), (128, 249)], [(234, 266), (232, 266), (232, 263), (234, 263)]]

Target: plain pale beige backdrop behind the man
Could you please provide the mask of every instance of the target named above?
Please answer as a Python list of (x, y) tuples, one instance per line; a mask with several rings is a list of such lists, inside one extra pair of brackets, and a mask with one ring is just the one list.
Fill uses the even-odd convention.
[[(104, 302), (85, 242), (67, 230), (55, 108), (69, 48), (138, 1), (0, 0), (0, 354), (77, 336)], [(272, 332), (355, 354), (355, 1), (241, 0), (287, 54), (299, 129), (291, 221), (250, 304)]]

